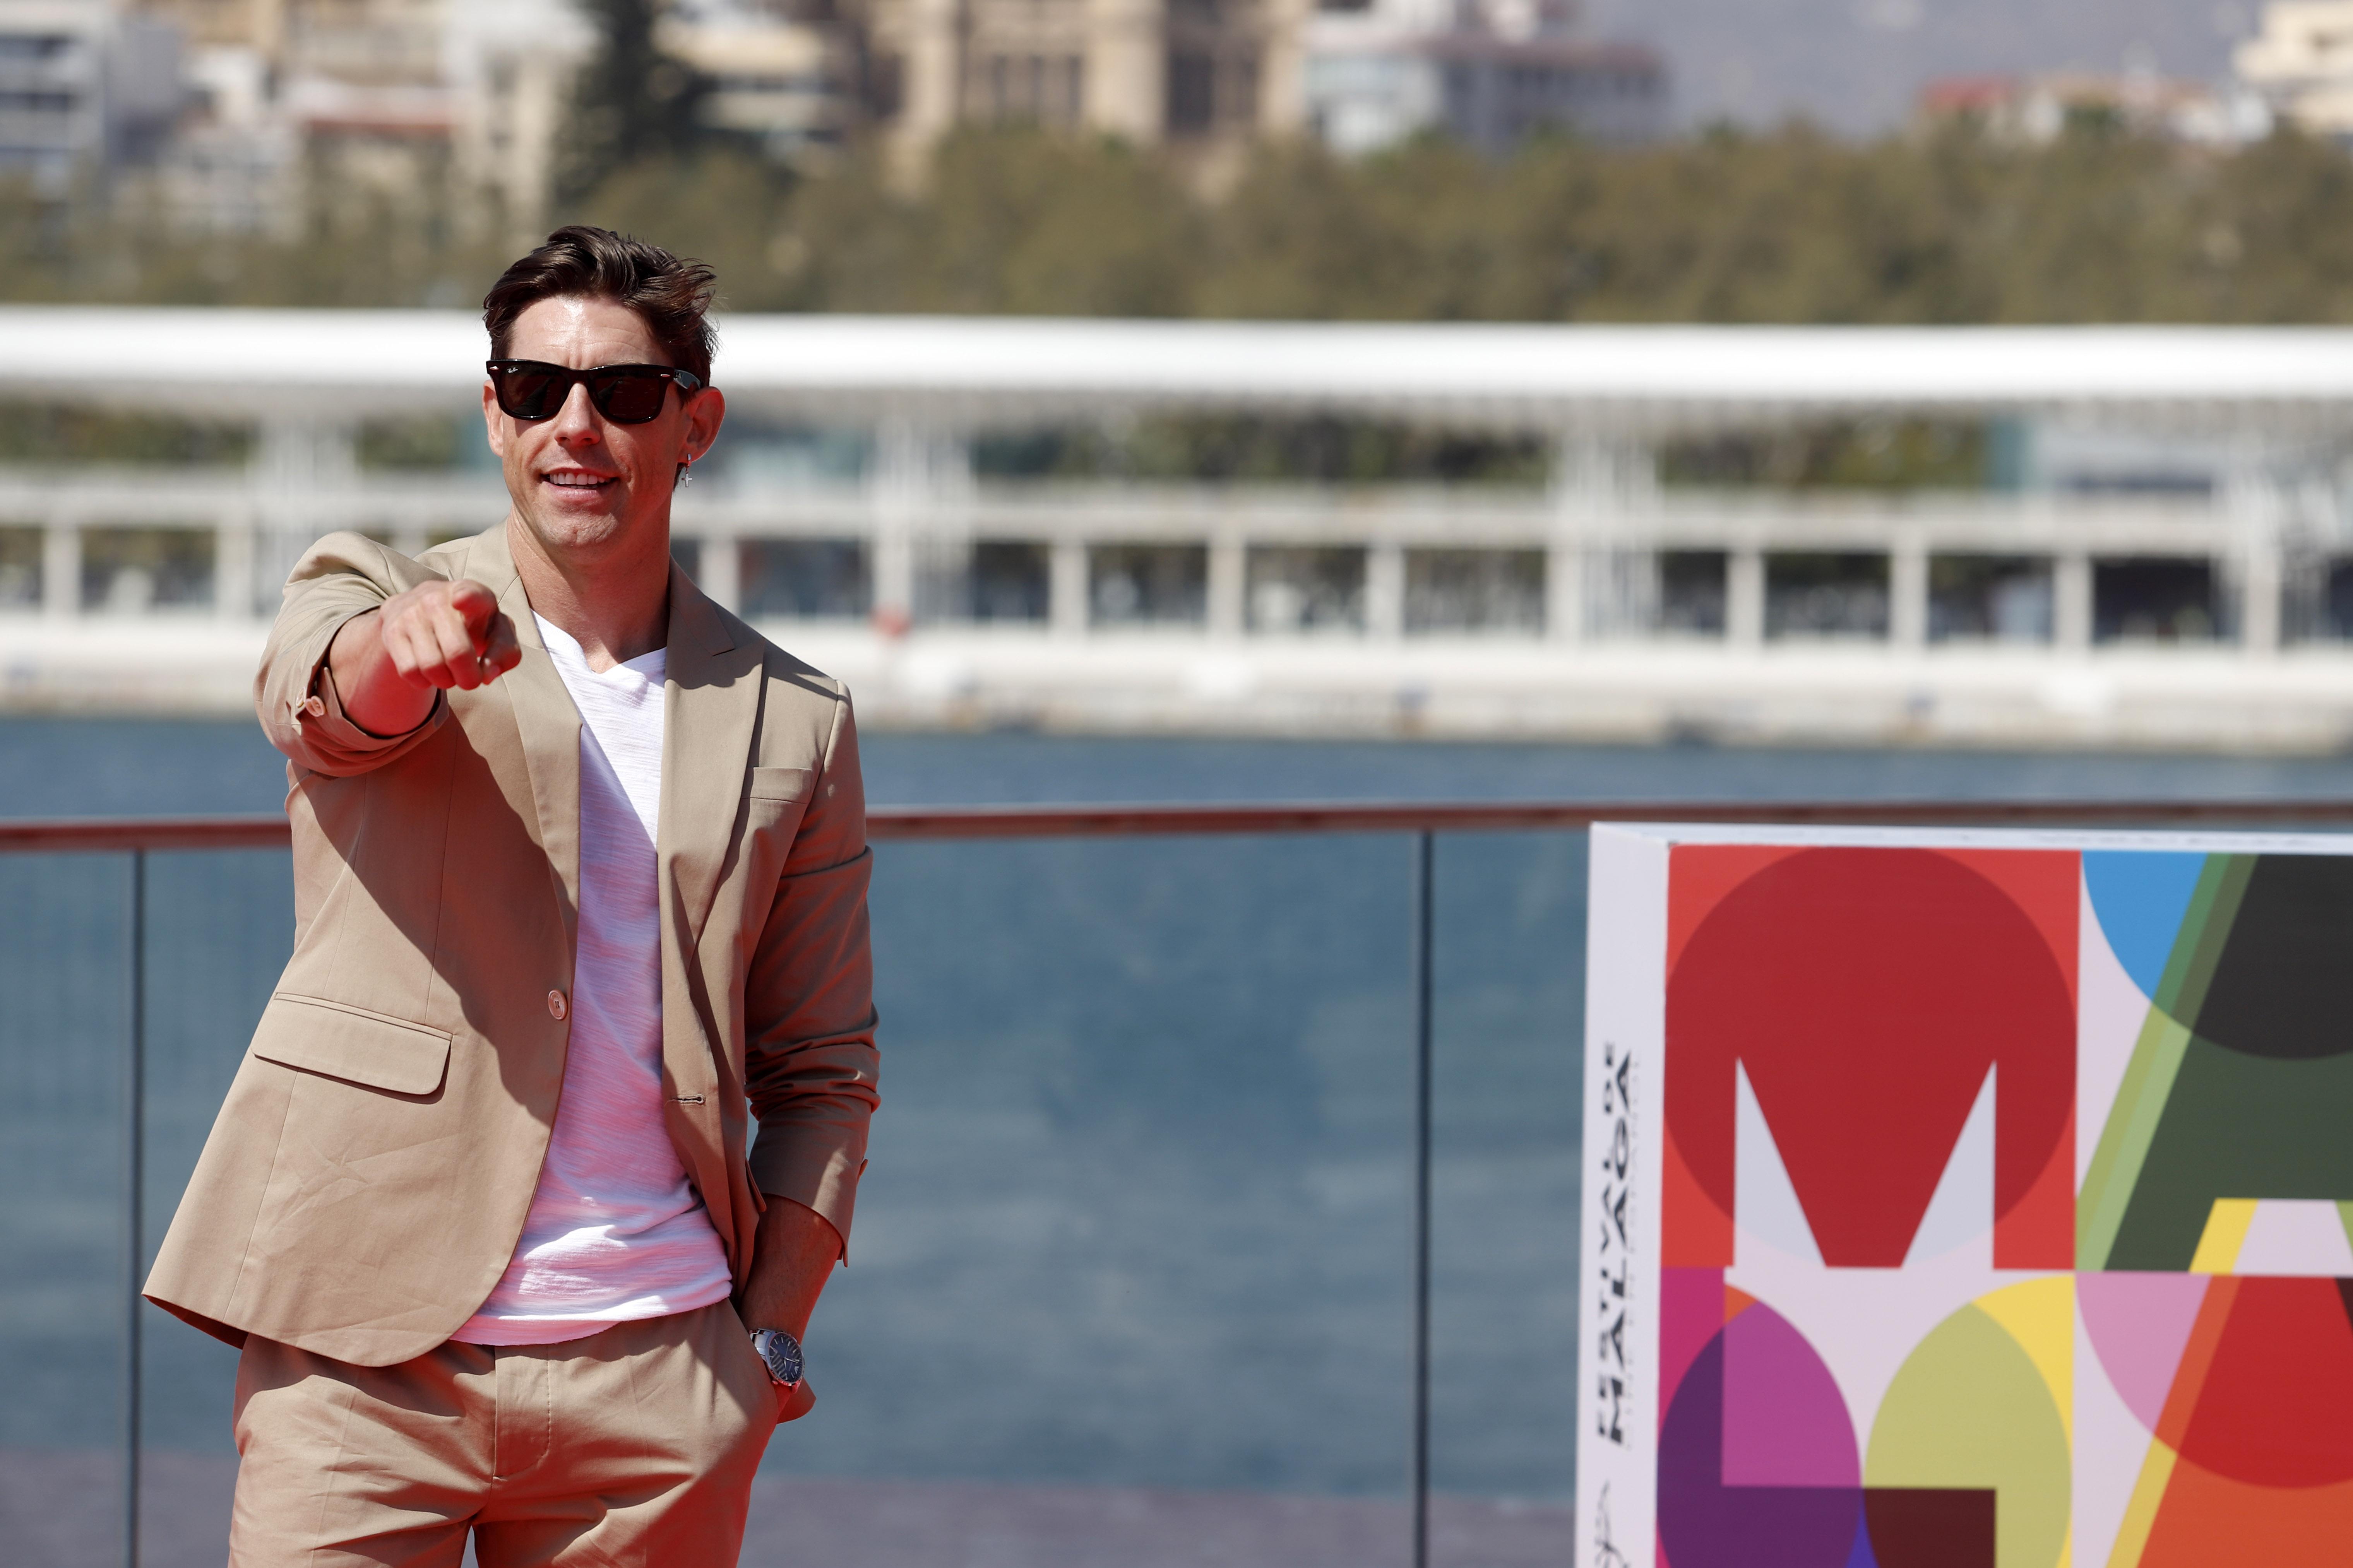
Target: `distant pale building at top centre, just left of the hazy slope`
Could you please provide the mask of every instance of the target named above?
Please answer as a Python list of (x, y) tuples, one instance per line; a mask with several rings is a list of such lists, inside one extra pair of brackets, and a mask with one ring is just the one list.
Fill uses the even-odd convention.
[(1339, 153), (1440, 132), (1482, 153), (1532, 134), (1640, 141), (1666, 125), (1666, 66), (1591, 42), (1562, 5), (1372, 0), (1306, 33), (1306, 115)]

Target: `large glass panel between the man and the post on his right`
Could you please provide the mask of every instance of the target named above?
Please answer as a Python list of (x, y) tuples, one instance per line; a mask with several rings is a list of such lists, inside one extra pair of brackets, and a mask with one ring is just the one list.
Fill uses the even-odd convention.
[(1405, 844), (880, 851), (885, 1110), (748, 1561), (1409, 1561)]

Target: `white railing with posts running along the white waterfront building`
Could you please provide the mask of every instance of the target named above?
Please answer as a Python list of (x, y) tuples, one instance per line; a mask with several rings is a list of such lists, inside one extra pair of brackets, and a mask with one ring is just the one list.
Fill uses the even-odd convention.
[[(1574, 501), (1565, 496), (1574, 494)], [(2337, 559), (2346, 541), (2301, 520), (2282, 538), (2271, 524), (2233, 510), (2228, 498), (2080, 496), (2080, 494), (1805, 494), (1741, 489), (1647, 491), (1586, 510), (1584, 491), (1381, 484), (1362, 491), (1221, 484), (976, 484), (969, 475), (941, 489), (751, 487), (720, 482), (680, 498), (678, 543), (692, 545), (689, 569), (734, 614), (767, 616), (748, 604), (746, 555), (784, 543), (842, 543), (864, 552), (866, 590), (854, 599), (925, 623), (969, 625), (965, 611), (936, 614), (920, 576), (974, 569), (974, 543), (1033, 545), (1040, 552), (1035, 623), (1066, 632), (1094, 625), (1089, 552), (1106, 548), (1176, 548), (1205, 557), (1198, 614), (1179, 616), (1217, 637), (1252, 632), (1247, 583), (1266, 552), (1318, 548), (1353, 552), (1339, 585), (1360, 599), (1362, 630), (1377, 639), (1412, 630), (1407, 555), (1544, 555), (1537, 574), (1555, 583), (1546, 614), (1553, 642), (1626, 639), (1664, 632), (1657, 604), (1657, 557), (1725, 557), (1722, 632), (1732, 644), (1767, 635), (1767, 557), (1781, 552), (1854, 552), (1887, 562), (1889, 646), (1929, 639), (1932, 559), (2019, 557), (2049, 574), (2052, 646), (2087, 646), (2094, 632), (2094, 562), (2158, 557), (2202, 562), (2231, 581), (2238, 630), (2249, 646), (2271, 646), (2289, 609), (2280, 592), (2299, 559)], [(231, 625), (259, 625), (275, 607), (278, 583), (320, 531), (360, 529), (414, 555), (433, 538), (473, 534), (506, 508), (496, 477), (351, 475), (346, 482), (282, 487), (238, 470), (21, 470), (0, 465), (0, 517), (40, 531), (38, 562), (9, 595), (9, 607), (66, 621), (108, 611), (115, 557), (125, 536), (186, 543), (186, 578), (172, 592), (113, 614), (155, 609)], [(1567, 510), (1565, 510), (1567, 508)], [(108, 543), (113, 541), (113, 543)], [(2282, 550), (2287, 552), (2282, 557)], [(1047, 564), (1066, 557), (1068, 567)], [(155, 562), (148, 559), (148, 569)], [(758, 567), (751, 567), (758, 571)], [(1569, 590), (1574, 585), (1574, 590)], [(148, 590), (158, 583), (148, 581)], [(1537, 590), (1539, 597), (1544, 588)], [(816, 618), (835, 611), (800, 611)], [(1280, 628), (1266, 628), (1280, 630)], [(1471, 628), (1466, 628), (1471, 630)], [(1478, 616), (1478, 630), (1527, 630), (1501, 611)], [(2294, 628), (2289, 628), (2294, 632)]]

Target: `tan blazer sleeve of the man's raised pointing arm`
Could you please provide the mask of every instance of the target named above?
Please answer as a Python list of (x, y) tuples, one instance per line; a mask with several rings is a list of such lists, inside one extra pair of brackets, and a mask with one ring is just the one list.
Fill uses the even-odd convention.
[(294, 564), (261, 651), (261, 672), (254, 675), (261, 729), (294, 766), (329, 776), (365, 773), (412, 750), (449, 717), (449, 703), (435, 693), (424, 724), (405, 736), (372, 736), (344, 715), (327, 677), (327, 646), (346, 621), (440, 576), (365, 534), (329, 534)]

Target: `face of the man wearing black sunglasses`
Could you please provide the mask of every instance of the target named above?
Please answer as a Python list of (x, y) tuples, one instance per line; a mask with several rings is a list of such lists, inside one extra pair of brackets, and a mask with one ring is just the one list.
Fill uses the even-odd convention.
[[(567, 369), (673, 364), (645, 317), (609, 299), (539, 301), (515, 317), (506, 357)], [(659, 416), (619, 425), (598, 414), (586, 386), (574, 386), (553, 416), (525, 421), (504, 414), (482, 378), (482, 418), (506, 494), (551, 557), (666, 552), (678, 465), (711, 449), (722, 414), (718, 390), (682, 397), (673, 386)]]

